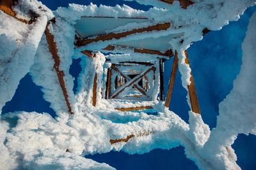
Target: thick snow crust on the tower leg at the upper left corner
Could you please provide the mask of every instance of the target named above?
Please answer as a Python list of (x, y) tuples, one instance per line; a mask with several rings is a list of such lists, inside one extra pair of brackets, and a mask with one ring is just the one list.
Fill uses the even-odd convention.
[[(19, 1), (17, 8), (33, 11), (38, 6), (31, 6), (37, 1)], [(46, 7), (37, 13), (35, 22), (24, 24), (14, 17), (0, 11), (0, 110), (7, 101), (10, 101), (29, 67), (33, 64), (38, 44), (44, 34), (47, 20), (53, 17), (52, 12)], [(43, 12), (42, 12), (43, 11)], [(23, 10), (19, 10), (20, 16), (27, 16)]]

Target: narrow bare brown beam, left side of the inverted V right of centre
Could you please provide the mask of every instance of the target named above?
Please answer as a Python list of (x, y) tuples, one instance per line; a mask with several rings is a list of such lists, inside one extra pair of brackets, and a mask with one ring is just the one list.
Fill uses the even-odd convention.
[(173, 59), (173, 65), (172, 65), (172, 73), (171, 73), (171, 76), (170, 76), (168, 92), (167, 92), (166, 101), (165, 101), (165, 107), (166, 108), (169, 108), (169, 106), (170, 106), (170, 101), (171, 101), (171, 98), (172, 98), (173, 85), (174, 85), (175, 76), (176, 76), (176, 72), (177, 72), (177, 68), (178, 68), (178, 61), (179, 61), (178, 53), (175, 51), (175, 55), (174, 55), (174, 59)]

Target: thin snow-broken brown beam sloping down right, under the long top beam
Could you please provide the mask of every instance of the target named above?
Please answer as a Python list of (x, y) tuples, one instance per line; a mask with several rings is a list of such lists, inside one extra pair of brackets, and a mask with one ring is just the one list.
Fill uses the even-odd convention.
[[(123, 48), (132, 48), (131, 46), (122, 46)], [(166, 56), (166, 57), (172, 57), (173, 52), (172, 50), (166, 50), (166, 52), (159, 52), (157, 50), (148, 50), (145, 48), (132, 48), (134, 53), (148, 53), (148, 54), (153, 54), (153, 55), (161, 55), (161, 56)], [(102, 50), (108, 50), (108, 51), (113, 51), (115, 50), (114, 45), (108, 45), (106, 48), (103, 48)]]

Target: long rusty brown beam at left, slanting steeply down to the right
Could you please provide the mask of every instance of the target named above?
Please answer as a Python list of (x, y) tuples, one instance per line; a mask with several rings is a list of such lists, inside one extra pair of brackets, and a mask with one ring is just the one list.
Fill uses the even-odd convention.
[(60, 57), (58, 55), (58, 48), (57, 45), (54, 41), (54, 36), (51, 34), (50, 30), (49, 30), (49, 25), (51, 24), (51, 22), (48, 22), (46, 28), (45, 28), (45, 37), (49, 46), (49, 51), (52, 54), (52, 58), (54, 59), (54, 69), (56, 71), (56, 74), (58, 76), (58, 80), (60, 83), (60, 87), (61, 90), (63, 92), (63, 96), (65, 98), (66, 104), (67, 104), (67, 108), (69, 113), (72, 115), (74, 114), (72, 112), (72, 108), (70, 106), (70, 102), (68, 101), (68, 94), (67, 94), (67, 89), (66, 89), (66, 85), (65, 85), (65, 81), (64, 81), (64, 72), (60, 70)]

